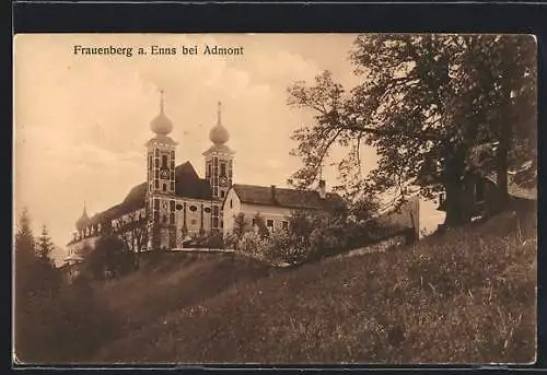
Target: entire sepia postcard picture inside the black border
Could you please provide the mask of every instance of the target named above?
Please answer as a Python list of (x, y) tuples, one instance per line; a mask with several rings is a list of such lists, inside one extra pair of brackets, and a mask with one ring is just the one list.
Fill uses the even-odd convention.
[(18, 34), (12, 363), (532, 364), (526, 34)]

